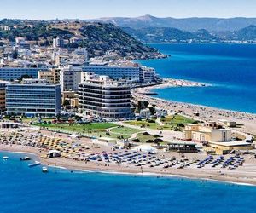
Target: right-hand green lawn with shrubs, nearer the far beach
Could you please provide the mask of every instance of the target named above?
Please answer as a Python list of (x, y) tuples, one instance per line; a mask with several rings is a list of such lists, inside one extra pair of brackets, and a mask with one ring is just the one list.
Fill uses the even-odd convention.
[(152, 130), (182, 130), (186, 124), (195, 123), (195, 120), (183, 117), (181, 115), (173, 115), (161, 118), (160, 122), (164, 125), (158, 124), (156, 120), (152, 118), (150, 120), (127, 121), (125, 123)]

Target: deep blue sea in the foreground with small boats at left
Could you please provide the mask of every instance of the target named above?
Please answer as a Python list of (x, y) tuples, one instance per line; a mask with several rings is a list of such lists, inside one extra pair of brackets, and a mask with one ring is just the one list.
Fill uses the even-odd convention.
[(0, 153), (1, 213), (256, 212), (253, 186), (53, 167), (43, 173), (20, 161), (25, 155)]

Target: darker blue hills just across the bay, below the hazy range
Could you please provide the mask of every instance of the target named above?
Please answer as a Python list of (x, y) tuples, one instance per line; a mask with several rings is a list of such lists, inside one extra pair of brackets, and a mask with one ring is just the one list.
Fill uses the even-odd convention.
[(123, 30), (143, 43), (234, 43), (256, 42), (256, 26), (247, 26), (234, 32), (208, 32), (200, 29), (196, 32), (182, 31), (170, 27), (147, 27)]

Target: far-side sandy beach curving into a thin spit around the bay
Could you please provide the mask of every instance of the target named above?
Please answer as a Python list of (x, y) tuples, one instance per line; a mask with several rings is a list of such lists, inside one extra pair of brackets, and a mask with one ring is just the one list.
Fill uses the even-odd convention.
[[(149, 87), (141, 87), (133, 90), (133, 97), (135, 100), (145, 100), (154, 104), (156, 107), (166, 109), (168, 111), (179, 112), (189, 118), (194, 118), (201, 121), (218, 121), (220, 119), (226, 119), (230, 121), (236, 121), (236, 124), (240, 124), (237, 130), (240, 130), (247, 134), (254, 134), (256, 130), (256, 114), (249, 112), (239, 112), (227, 109), (220, 109), (217, 107), (207, 107), (203, 105), (196, 105), (192, 103), (170, 101), (162, 98), (150, 96), (153, 89), (164, 89), (169, 87), (189, 87), (189, 86), (211, 86), (210, 84), (195, 83), (187, 80), (175, 79), (177, 85), (172, 83), (162, 83), (160, 85), (153, 85)], [(200, 115), (195, 116), (195, 112)]]

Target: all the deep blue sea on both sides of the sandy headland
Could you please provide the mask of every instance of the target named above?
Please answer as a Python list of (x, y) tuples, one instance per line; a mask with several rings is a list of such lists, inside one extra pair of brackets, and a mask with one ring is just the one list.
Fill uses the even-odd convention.
[[(256, 112), (256, 46), (150, 44), (171, 55), (140, 61), (162, 77), (211, 83), (158, 89), (160, 98)], [(256, 187), (181, 176), (142, 176), (29, 168), (25, 153), (0, 153), (1, 213), (236, 213), (256, 212)], [(3, 156), (9, 156), (3, 160)], [(35, 156), (31, 155), (35, 160)]]

